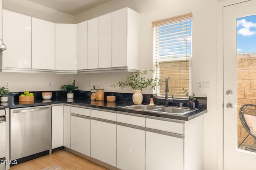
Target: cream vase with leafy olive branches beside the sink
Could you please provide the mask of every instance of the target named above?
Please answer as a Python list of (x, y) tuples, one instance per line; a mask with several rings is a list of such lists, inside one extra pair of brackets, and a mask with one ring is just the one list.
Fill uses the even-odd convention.
[[(150, 70), (154, 73), (154, 70)], [(161, 86), (163, 81), (155, 78), (146, 78), (146, 74), (148, 73), (147, 70), (142, 71), (135, 71), (133, 72), (132, 76), (127, 76), (125, 81), (120, 81), (116, 84), (112, 84), (112, 87), (116, 87), (117, 85), (123, 90), (124, 87), (131, 87), (134, 89), (134, 94), (132, 95), (132, 101), (134, 104), (141, 104), (143, 100), (143, 96), (141, 94), (142, 89), (154, 89), (157, 86)]]

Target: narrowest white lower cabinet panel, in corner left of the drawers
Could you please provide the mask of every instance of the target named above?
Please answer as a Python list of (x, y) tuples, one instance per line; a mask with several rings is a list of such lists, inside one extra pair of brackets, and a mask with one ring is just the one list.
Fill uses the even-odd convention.
[(63, 146), (70, 148), (70, 106), (63, 106)]

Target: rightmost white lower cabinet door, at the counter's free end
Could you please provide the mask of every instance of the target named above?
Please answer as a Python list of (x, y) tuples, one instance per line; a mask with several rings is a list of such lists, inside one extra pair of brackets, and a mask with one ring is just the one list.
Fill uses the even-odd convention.
[(183, 139), (146, 131), (146, 170), (183, 170)]

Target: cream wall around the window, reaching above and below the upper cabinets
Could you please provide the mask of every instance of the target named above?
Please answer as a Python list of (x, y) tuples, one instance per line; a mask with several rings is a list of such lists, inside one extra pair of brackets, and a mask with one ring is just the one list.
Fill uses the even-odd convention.
[[(112, 0), (74, 16), (79, 23), (124, 7), (140, 13), (140, 66), (153, 68), (153, 29), (151, 21), (192, 12), (192, 91), (207, 96), (208, 113), (204, 115), (204, 170), (217, 170), (217, 64), (216, 64), (216, 0)], [(89, 82), (105, 91), (122, 92), (111, 84), (125, 80), (124, 73), (74, 75), (81, 90), (89, 90)], [(197, 80), (211, 80), (211, 90), (199, 91)], [(113, 89), (113, 90), (111, 90)], [(132, 90), (124, 90), (132, 92)], [(147, 93), (147, 92), (146, 92)], [(151, 92), (152, 93), (152, 92)]]

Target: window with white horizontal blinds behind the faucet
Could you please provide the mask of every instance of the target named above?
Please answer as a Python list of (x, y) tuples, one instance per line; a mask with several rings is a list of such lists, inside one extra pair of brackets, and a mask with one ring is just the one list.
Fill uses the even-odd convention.
[[(187, 98), (184, 89), (191, 92), (191, 18), (189, 13), (152, 22), (155, 76), (170, 78), (169, 97)], [(165, 84), (156, 93), (164, 96)]]

